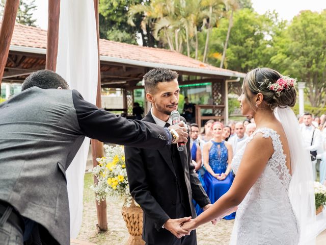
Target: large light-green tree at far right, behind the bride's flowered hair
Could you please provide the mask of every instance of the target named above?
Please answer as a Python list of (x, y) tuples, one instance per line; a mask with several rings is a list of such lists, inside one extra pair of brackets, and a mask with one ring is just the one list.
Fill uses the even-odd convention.
[(326, 10), (302, 11), (275, 42), (271, 63), (285, 75), (306, 82), (313, 107), (326, 105)]

